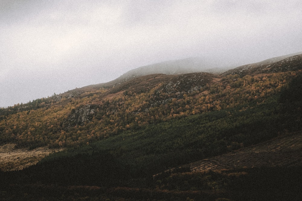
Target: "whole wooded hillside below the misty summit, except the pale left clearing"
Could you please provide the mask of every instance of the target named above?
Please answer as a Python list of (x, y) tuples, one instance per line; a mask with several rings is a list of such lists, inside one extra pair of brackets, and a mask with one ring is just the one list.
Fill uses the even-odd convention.
[(1, 109), (3, 144), (64, 150), (0, 172), (0, 197), (300, 200), (302, 63), (278, 62), (246, 75), (146, 75)]

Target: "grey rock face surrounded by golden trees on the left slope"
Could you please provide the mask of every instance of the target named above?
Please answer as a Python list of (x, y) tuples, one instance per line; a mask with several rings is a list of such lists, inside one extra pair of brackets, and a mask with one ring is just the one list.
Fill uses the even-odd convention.
[(72, 111), (71, 115), (67, 119), (66, 124), (69, 126), (79, 125), (82, 126), (91, 121), (93, 115), (95, 114), (95, 108), (93, 105), (88, 104), (84, 105), (74, 111)]

